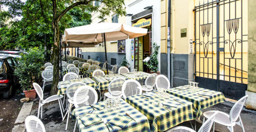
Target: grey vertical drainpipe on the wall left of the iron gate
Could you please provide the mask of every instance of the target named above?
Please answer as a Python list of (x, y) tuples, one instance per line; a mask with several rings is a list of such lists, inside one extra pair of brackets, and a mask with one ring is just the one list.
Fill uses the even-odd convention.
[(170, 26), (171, 26), (171, 0), (169, 0), (168, 2), (168, 31), (167, 31), (167, 77), (170, 80), (170, 49), (171, 49), (171, 45), (170, 45)]

